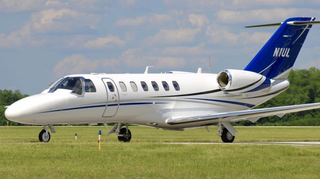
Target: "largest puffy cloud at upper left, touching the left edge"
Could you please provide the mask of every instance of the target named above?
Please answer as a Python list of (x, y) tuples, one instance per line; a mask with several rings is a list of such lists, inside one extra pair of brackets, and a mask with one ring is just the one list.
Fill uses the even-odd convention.
[[(31, 18), (21, 29), (14, 30), (7, 35), (0, 35), (0, 48), (22, 45), (31, 47), (33, 45), (48, 44), (47, 42), (49, 44), (60, 43), (63, 44), (60, 46), (64, 47), (64, 44), (72, 46), (71, 44), (73, 43), (74, 46), (72, 40), (78, 42), (80, 39), (76, 35), (80, 33), (81, 36), (86, 36), (87, 33), (95, 30), (98, 22), (99, 17), (97, 15), (81, 13), (76, 10), (66, 8), (40, 10), (31, 13)], [(71, 32), (71, 34), (65, 38), (52, 37), (54, 33), (63, 34), (65, 32)], [(82, 38), (81, 44), (86, 39)], [(118, 41), (118, 43), (121, 43), (121, 41)]]

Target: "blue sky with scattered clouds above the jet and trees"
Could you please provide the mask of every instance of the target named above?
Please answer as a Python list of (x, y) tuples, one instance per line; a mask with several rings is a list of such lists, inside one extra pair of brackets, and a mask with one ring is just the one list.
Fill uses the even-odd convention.
[[(37, 94), (79, 73), (243, 69), (277, 27), (320, 0), (0, 0), (0, 89)], [(313, 25), (294, 68), (320, 68)], [(210, 57), (210, 68), (209, 68)], [(212, 79), (215, 80), (215, 79)]]

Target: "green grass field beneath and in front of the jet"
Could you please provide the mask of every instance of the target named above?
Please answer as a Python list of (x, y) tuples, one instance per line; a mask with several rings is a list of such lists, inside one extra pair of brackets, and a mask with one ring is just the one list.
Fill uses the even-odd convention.
[[(183, 132), (130, 127), (130, 143), (103, 127), (56, 127), (40, 143), (40, 127), (0, 127), (0, 179), (5, 178), (292, 178), (320, 176), (320, 147), (197, 145), (220, 142), (216, 128)], [(318, 127), (236, 127), (235, 142), (320, 141)], [(98, 130), (102, 148), (98, 151)], [(74, 140), (77, 133), (78, 140)]]

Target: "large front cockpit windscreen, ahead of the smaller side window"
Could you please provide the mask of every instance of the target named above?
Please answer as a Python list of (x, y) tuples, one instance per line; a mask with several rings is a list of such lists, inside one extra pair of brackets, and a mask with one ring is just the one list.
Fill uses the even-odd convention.
[(82, 81), (80, 78), (65, 78), (59, 83), (58, 86), (56, 86), (54, 88), (54, 91), (57, 89), (72, 90), (71, 93), (81, 95), (82, 94)]

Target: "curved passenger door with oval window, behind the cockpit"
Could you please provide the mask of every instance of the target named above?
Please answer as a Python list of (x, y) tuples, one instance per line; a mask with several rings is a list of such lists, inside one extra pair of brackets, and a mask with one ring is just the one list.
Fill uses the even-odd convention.
[(113, 117), (119, 108), (119, 91), (110, 78), (102, 78), (106, 91), (106, 106), (102, 117)]

